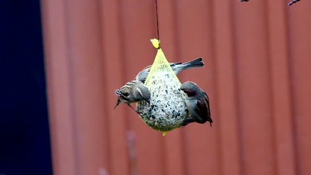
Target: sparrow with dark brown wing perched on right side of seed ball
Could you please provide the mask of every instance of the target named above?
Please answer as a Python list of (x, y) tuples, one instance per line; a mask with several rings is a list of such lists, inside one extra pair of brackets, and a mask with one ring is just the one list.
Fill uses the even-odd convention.
[(212, 126), (210, 118), (209, 99), (207, 94), (195, 83), (187, 81), (180, 86), (180, 90), (186, 93), (186, 106), (189, 111), (188, 117), (183, 126), (189, 123), (206, 123)]

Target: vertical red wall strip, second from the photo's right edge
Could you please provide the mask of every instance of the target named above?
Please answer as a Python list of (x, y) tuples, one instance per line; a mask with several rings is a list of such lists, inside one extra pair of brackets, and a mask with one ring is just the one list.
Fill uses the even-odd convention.
[(295, 174), (289, 55), (284, 0), (267, 1), (273, 124), (278, 175)]

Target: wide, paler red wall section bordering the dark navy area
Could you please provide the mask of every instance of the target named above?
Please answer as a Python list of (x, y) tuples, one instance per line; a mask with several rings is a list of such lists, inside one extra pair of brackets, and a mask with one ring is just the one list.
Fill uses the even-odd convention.
[[(49, 106), (58, 106), (54, 110), (50, 108), (52, 135), (55, 135), (52, 137), (55, 145), (52, 152), (56, 157), (54, 172), (102, 173), (106, 171), (108, 161), (104, 160), (104, 152), (108, 150), (103, 149), (106, 147), (104, 83), (98, 6), (81, 1), (43, 2), (42, 5), (43, 18), (47, 19), (44, 21), (45, 47), (52, 50), (46, 52), (47, 80), (51, 82), (48, 84), (51, 87), (48, 88)], [(57, 88), (61, 89), (56, 91)]]

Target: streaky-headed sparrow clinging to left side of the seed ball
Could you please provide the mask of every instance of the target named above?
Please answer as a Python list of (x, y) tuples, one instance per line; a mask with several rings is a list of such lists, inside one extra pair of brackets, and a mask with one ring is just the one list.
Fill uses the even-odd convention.
[[(127, 82), (121, 88), (115, 90), (116, 95), (118, 96), (117, 105), (113, 110), (121, 103), (124, 102), (132, 109), (134, 109), (130, 104), (134, 102), (140, 102), (145, 100), (150, 104), (150, 91), (149, 89), (138, 80), (132, 80)], [(134, 109), (135, 110), (135, 109)], [(135, 110), (135, 112), (137, 112)]]

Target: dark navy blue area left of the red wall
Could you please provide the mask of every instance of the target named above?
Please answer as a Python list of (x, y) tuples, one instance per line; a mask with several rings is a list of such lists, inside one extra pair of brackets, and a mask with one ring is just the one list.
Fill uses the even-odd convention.
[(0, 175), (52, 175), (39, 0), (0, 1)]

